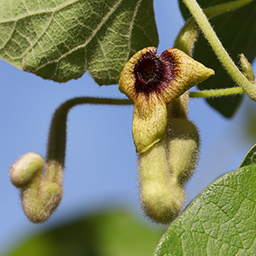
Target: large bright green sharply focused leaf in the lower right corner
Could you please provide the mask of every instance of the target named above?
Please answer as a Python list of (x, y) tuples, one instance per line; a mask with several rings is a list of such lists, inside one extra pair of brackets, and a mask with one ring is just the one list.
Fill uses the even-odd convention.
[(162, 255), (255, 255), (256, 146), (241, 168), (218, 178), (167, 230)]

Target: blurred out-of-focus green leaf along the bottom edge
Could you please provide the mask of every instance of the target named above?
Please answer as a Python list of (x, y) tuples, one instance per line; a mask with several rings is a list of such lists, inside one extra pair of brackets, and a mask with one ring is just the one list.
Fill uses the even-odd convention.
[(5, 256), (149, 256), (161, 235), (123, 210), (106, 211), (43, 231)]

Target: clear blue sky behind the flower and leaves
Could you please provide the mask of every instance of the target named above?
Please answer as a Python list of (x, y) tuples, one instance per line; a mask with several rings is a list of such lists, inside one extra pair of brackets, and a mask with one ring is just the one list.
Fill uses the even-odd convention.
[[(177, 1), (154, 2), (161, 53), (172, 47), (183, 18)], [(57, 84), (0, 61), (0, 75), (0, 254), (32, 232), (108, 202), (123, 202), (142, 214), (131, 137), (133, 107), (83, 105), (73, 108), (68, 116), (61, 206), (46, 224), (31, 224), (21, 210), (19, 191), (9, 182), (10, 164), (28, 151), (45, 156), (50, 119), (61, 102), (75, 96), (125, 96), (117, 85), (100, 87), (88, 73), (81, 79)], [(224, 119), (203, 99), (190, 101), (189, 118), (201, 130), (202, 146), (198, 171), (188, 184), (188, 201), (218, 176), (236, 169), (253, 146), (254, 142), (245, 139), (242, 125), (248, 105), (256, 107), (245, 100), (235, 118)]]

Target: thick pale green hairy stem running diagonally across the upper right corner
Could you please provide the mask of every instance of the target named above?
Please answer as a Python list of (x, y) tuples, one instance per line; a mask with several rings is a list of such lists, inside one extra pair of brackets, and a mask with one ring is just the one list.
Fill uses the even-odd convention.
[(230, 76), (241, 86), (247, 95), (256, 101), (256, 87), (247, 80), (238, 67), (236, 67), (234, 61), (231, 60), (230, 55), (219, 41), (216, 33), (213, 31), (212, 26), (207, 20), (207, 16), (202, 12), (201, 7), (195, 0), (183, 0), (183, 3), (186, 4), (190, 13), (194, 16), (197, 24), (201, 27), (201, 31), (204, 33), (209, 44), (211, 44), (212, 49), (227, 72), (230, 73)]

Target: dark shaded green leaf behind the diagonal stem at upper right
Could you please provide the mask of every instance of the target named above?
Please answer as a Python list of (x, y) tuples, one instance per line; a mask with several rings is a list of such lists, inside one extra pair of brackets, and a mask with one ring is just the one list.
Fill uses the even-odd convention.
[[(189, 17), (188, 9), (179, 0), (180, 8), (184, 19)], [(202, 8), (207, 8), (220, 3), (227, 3), (227, 0), (198, 0)], [(253, 62), (256, 56), (256, 2), (253, 1), (230, 13), (218, 15), (212, 18), (211, 24), (217, 32), (218, 38), (228, 50), (231, 58), (239, 65), (239, 54), (243, 53), (247, 60)], [(200, 34), (195, 43), (194, 58), (201, 61), (207, 67), (215, 70), (216, 75), (204, 83), (198, 85), (200, 90), (220, 89), (234, 87), (235, 82), (230, 79), (224, 68), (218, 62), (207, 40)], [(241, 103), (242, 96), (225, 96), (220, 98), (207, 99), (207, 102), (222, 113), (225, 117), (230, 118), (236, 113)]]

